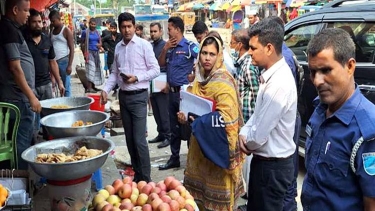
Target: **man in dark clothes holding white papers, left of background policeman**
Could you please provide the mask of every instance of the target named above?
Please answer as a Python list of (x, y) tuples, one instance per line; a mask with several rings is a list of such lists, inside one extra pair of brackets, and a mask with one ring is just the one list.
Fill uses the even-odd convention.
[[(160, 23), (154, 22), (150, 24), (150, 36), (152, 39), (152, 47), (154, 49), (155, 57), (158, 58), (162, 49), (165, 46), (165, 41), (163, 40), (163, 30)], [(155, 81), (158, 78), (154, 79), (151, 83), (151, 106), (154, 112), (154, 118), (157, 125), (158, 136), (156, 138), (149, 140), (148, 143), (160, 143), (157, 147), (163, 148), (167, 147), (171, 139), (171, 130), (169, 125), (169, 112), (168, 112), (168, 94), (155, 90), (155, 86), (158, 86), (158, 83), (163, 83), (162, 77), (165, 77), (166, 86), (166, 70), (165, 67), (160, 68), (161, 74), (159, 75), (160, 81)], [(163, 87), (163, 88), (164, 88)], [(157, 88), (157, 87), (156, 87)]]

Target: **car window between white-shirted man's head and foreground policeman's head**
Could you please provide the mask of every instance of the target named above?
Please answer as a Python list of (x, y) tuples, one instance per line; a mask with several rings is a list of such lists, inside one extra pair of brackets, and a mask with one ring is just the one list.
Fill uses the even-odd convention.
[(310, 40), (318, 33), (321, 24), (309, 24), (288, 31), (284, 36), (286, 45), (294, 52), (298, 60), (306, 61), (306, 48)]

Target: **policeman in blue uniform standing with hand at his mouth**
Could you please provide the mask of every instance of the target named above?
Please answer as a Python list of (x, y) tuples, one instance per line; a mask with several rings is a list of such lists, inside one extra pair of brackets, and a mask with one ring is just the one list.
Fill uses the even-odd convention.
[(159, 166), (159, 170), (180, 167), (181, 132), (177, 121), (180, 110), (181, 86), (188, 84), (188, 74), (193, 71), (194, 60), (198, 56), (199, 48), (184, 37), (184, 22), (180, 17), (168, 20), (169, 40), (165, 44), (160, 56), (160, 67), (167, 67), (168, 87), (163, 90), (169, 92), (169, 120), (171, 126), (171, 152), (168, 162)]

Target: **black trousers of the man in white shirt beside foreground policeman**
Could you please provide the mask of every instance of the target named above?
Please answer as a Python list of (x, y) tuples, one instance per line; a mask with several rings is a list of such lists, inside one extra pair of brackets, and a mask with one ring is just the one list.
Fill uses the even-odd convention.
[(262, 160), (254, 156), (250, 166), (247, 211), (282, 211), (293, 175), (293, 157)]

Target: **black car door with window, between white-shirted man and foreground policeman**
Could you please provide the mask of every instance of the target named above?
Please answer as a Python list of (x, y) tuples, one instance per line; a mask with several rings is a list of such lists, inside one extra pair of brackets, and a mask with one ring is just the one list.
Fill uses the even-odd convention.
[(314, 85), (310, 80), (310, 71), (307, 64), (307, 46), (310, 40), (325, 28), (322, 22), (324, 14), (316, 14), (299, 18), (297, 23), (290, 22), (285, 26), (284, 41), (286, 45), (294, 52), (297, 60), (304, 69), (304, 84), (302, 87), (301, 95), (298, 98), (298, 111), (301, 115), (301, 141), (300, 145), (305, 145), (305, 126), (314, 111), (312, 104), (317, 96)]

